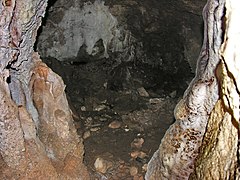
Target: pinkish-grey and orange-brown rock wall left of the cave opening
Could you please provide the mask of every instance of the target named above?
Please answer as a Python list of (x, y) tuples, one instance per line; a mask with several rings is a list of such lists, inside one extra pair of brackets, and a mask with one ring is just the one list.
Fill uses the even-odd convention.
[[(33, 52), (46, 6), (45, 0), (0, 4), (0, 179), (88, 179), (65, 86)], [(52, 80), (56, 81), (51, 84)], [(39, 103), (52, 107), (41, 109)], [(53, 113), (50, 119), (47, 115)], [(48, 120), (55, 124), (44, 123)], [(49, 131), (56, 128), (61, 133)], [(51, 132), (48, 138), (54, 142), (47, 142)], [(56, 154), (55, 159), (46, 149)]]

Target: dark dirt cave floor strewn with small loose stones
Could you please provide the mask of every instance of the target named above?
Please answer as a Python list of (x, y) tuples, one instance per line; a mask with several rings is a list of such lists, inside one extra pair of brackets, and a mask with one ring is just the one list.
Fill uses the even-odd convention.
[(175, 84), (154, 83), (156, 72), (149, 67), (120, 65), (110, 71), (106, 61), (47, 64), (66, 84), (91, 179), (144, 179), (182, 92)]

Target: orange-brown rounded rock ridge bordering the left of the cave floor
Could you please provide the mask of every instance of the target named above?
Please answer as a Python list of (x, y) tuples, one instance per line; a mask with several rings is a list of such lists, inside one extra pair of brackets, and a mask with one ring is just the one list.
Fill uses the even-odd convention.
[(73, 124), (62, 78), (42, 63), (37, 54), (34, 54), (34, 61), (29, 89), (39, 114), (39, 139), (61, 176), (86, 179), (83, 145)]

